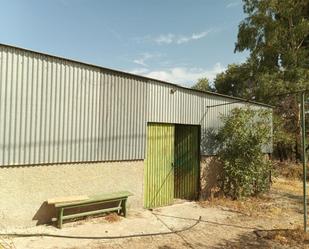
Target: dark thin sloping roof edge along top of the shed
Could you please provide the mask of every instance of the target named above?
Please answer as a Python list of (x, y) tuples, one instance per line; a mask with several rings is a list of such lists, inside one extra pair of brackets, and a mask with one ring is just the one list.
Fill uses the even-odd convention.
[(117, 74), (124, 74), (124, 75), (135, 77), (135, 78), (145, 79), (147, 81), (157, 81), (157, 82), (160, 82), (160, 83), (163, 83), (163, 84), (167, 84), (167, 85), (170, 85), (170, 86), (173, 86), (173, 87), (178, 87), (178, 88), (181, 88), (181, 89), (189, 90), (189, 91), (192, 91), (192, 92), (198, 92), (198, 93), (207, 94), (207, 95), (213, 95), (213, 96), (218, 96), (218, 97), (223, 97), (223, 98), (228, 98), (228, 99), (234, 99), (234, 100), (238, 100), (239, 102), (251, 103), (251, 104), (254, 104), (254, 105), (260, 105), (260, 106), (264, 106), (264, 107), (268, 107), (268, 108), (274, 108), (274, 106), (272, 106), (272, 105), (252, 101), (252, 100), (249, 100), (249, 99), (234, 97), (234, 96), (231, 96), (231, 95), (225, 95), (225, 94), (215, 93), (215, 92), (210, 92), (210, 91), (202, 91), (202, 90), (192, 89), (192, 88), (189, 88), (189, 87), (181, 86), (181, 85), (171, 83), (171, 82), (168, 82), (168, 81), (164, 81), (164, 80), (159, 80), (159, 79), (150, 78), (150, 77), (143, 76), (143, 75), (133, 74), (133, 73), (129, 73), (129, 72), (125, 72), (125, 71), (121, 71), (121, 70), (117, 70), (117, 69), (112, 69), (112, 68), (108, 68), (108, 67), (103, 67), (103, 66), (99, 66), (99, 65), (95, 65), (95, 64), (91, 64), (91, 63), (87, 63), (87, 62), (83, 62), (83, 61), (78, 61), (78, 60), (74, 60), (74, 59), (70, 59), (70, 58), (66, 58), (66, 57), (62, 57), (62, 56), (57, 56), (57, 55), (53, 55), (53, 54), (47, 54), (47, 53), (44, 53), (44, 52), (26, 49), (26, 48), (15, 46), (15, 45), (8, 45), (8, 44), (4, 44), (4, 43), (0, 42), (0, 46), (12, 48), (12, 49), (19, 49), (19, 50), (22, 50), (22, 51), (26, 51), (26, 52), (30, 52), (30, 53), (34, 53), (34, 54), (38, 54), (38, 55), (42, 55), (42, 56), (52, 57), (52, 58), (55, 58), (55, 59), (74, 62), (74, 63), (82, 64), (82, 65), (85, 65), (85, 66), (95, 67), (95, 68), (98, 68), (100, 70), (105, 70), (105, 71), (109, 71), (109, 72), (113, 72), (113, 73), (117, 73)]

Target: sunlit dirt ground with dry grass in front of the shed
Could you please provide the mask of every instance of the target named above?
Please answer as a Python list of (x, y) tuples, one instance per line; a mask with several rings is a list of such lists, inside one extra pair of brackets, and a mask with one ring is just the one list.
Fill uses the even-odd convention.
[(301, 182), (276, 178), (270, 193), (259, 198), (130, 210), (127, 218), (111, 215), (69, 222), (62, 230), (53, 226), (2, 228), (2, 234), (25, 236), (2, 235), (0, 244), (17, 249), (309, 248), (302, 222)]

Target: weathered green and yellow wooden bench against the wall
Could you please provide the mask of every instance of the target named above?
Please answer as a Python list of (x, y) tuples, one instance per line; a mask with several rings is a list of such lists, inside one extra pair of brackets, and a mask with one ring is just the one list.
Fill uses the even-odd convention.
[[(126, 217), (127, 199), (131, 195), (132, 193), (128, 191), (121, 191), (121, 192), (114, 192), (114, 193), (109, 193), (109, 194), (89, 196), (88, 199), (81, 200), (81, 201), (55, 203), (54, 205), (59, 211), (58, 219), (57, 219), (58, 228), (60, 229), (62, 228), (63, 220), (74, 219), (74, 218), (88, 216), (88, 215), (96, 215), (96, 214), (101, 214), (101, 213), (117, 211), (119, 215), (122, 213), (123, 216)], [(116, 207), (102, 208), (99, 210), (86, 211), (86, 212), (67, 214), (67, 215), (64, 212), (65, 210), (69, 210), (73, 208), (87, 207), (87, 206), (93, 206), (93, 205), (104, 204), (104, 203), (112, 203), (112, 202), (116, 202), (118, 203), (118, 205)]]

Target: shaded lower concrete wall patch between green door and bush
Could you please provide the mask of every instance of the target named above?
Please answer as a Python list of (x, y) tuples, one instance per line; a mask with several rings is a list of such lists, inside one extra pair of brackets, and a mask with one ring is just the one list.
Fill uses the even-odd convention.
[(216, 156), (201, 157), (201, 200), (212, 199), (219, 194), (219, 179), (222, 171), (222, 164)]

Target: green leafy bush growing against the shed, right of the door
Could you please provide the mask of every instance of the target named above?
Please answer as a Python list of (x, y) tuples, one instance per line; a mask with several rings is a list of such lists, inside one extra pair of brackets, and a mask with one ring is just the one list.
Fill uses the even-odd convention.
[(235, 108), (222, 116), (218, 151), (223, 163), (221, 190), (232, 198), (252, 196), (269, 188), (271, 162), (262, 147), (271, 141), (271, 114)]

